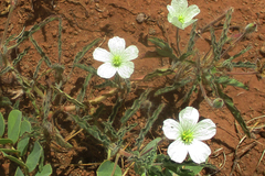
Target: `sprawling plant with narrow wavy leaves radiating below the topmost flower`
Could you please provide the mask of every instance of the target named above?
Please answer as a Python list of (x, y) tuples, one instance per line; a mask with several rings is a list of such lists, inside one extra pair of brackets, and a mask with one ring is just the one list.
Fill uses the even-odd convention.
[[(232, 73), (234, 67), (256, 68), (254, 63), (233, 62), (234, 58), (241, 56), (251, 47), (244, 48), (240, 53), (230, 56), (227, 59), (224, 59), (224, 56), (245, 35), (253, 32), (256, 25), (248, 25), (245, 31), (237, 36), (237, 38), (231, 42), (231, 37), (227, 36), (227, 31), (230, 29), (232, 12), (233, 9), (231, 8), (223, 15), (205, 25), (201, 30), (197, 30), (197, 23), (194, 23), (190, 33), (188, 46), (184, 51), (180, 51), (179, 47), (171, 47), (167, 42), (160, 38), (150, 37), (149, 41), (156, 45), (157, 53), (162, 57), (169, 57), (171, 59), (171, 65), (169, 68), (157, 69), (153, 73), (146, 75), (144, 80), (150, 80), (151, 78), (160, 76), (171, 76), (170, 79), (173, 84), (171, 86), (158, 89), (155, 92), (155, 96), (178, 90), (179, 88), (186, 86), (188, 87), (188, 91), (186, 92), (186, 96), (181, 102), (188, 101), (192, 92), (198, 92), (198, 90), (201, 90), (202, 96), (211, 107), (222, 108), (223, 105), (225, 105), (240, 123), (245, 134), (250, 136), (250, 130), (241, 117), (239, 109), (233, 103), (233, 99), (229, 97), (223, 89), (227, 86), (240, 87), (246, 90), (248, 89), (246, 85), (236, 80), (235, 78), (231, 78), (230, 75), (235, 74)], [(213, 24), (223, 18), (225, 18), (224, 25), (221, 36), (219, 37), (219, 41), (216, 41)], [(194, 48), (194, 45), (199, 36), (209, 28), (212, 36), (211, 47), (206, 54), (201, 54), (200, 51)], [(176, 37), (178, 46), (180, 42), (179, 35)], [(229, 45), (229, 47), (224, 48), (224, 45)], [(208, 91), (211, 92), (211, 98), (208, 97)]]

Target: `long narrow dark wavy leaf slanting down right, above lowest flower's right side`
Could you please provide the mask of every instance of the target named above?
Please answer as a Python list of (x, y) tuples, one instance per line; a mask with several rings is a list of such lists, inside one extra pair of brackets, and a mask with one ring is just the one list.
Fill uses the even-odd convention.
[(237, 110), (237, 108), (234, 106), (233, 103), (233, 99), (230, 98), (227, 95), (225, 95), (220, 86), (218, 86), (218, 91), (219, 91), (219, 96), (224, 100), (225, 106), (227, 107), (227, 109), (230, 110), (230, 112), (234, 116), (235, 120), (240, 123), (242, 130), (244, 131), (244, 133), (251, 138), (251, 132), (246, 127), (246, 123), (244, 121), (244, 119), (241, 117), (241, 112)]

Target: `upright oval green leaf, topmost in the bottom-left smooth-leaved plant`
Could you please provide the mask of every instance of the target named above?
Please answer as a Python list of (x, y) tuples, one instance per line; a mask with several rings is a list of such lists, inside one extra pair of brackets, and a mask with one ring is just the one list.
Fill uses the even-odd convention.
[(21, 118), (22, 112), (19, 110), (12, 110), (8, 117), (8, 138), (13, 141), (13, 144), (19, 139)]

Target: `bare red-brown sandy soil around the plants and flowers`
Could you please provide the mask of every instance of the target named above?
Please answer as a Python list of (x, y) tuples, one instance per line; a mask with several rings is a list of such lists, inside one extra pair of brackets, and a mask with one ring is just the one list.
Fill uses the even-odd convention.
[[(3, 1), (4, 0), (1, 0), (0, 2), (0, 10), (3, 10), (8, 4)], [(169, 65), (168, 58), (158, 58), (155, 56), (147, 58), (144, 56), (147, 52), (155, 51), (152, 44), (147, 42), (147, 37), (149, 36), (160, 37), (165, 41), (167, 41), (168, 37), (170, 43), (176, 42), (176, 28), (167, 21), (167, 4), (170, 4), (170, 0), (32, 0), (32, 2), (30, 0), (19, 0), (9, 25), (9, 35), (19, 34), (23, 26), (25, 26), (25, 30), (29, 30), (52, 14), (61, 15), (63, 19), (62, 64), (65, 66), (66, 75), (71, 70), (75, 54), (86, 44), (100, 37), (104, 38), (100, 47), (107, 48), (107, 41), (110, 37), (120, 36), (126, 40), (127, 46), (136, 45), (140, 52), (139, 57), (134, 61), (135, 73), (131, 77), (134, 79), (142, 77), (156, 68)], [(198, 29), (223, 14), (230, 7), (234, 8), (231, 22), (232, 26), (239, 26), (239, 29), (243, 30), (248, 23), (256, 22), (257, 31), (242, 41), (229, 54), (236, 54), (246, 46), (252, 45), (252, 50), (236, 58), (236, 61), (255, 63), (258, 58), (264, 63), (265, 53), (262, 53), (262, 47), (265, 45), (265, 1), (189, 0), (189, 4), (197, 4), (201, 10), (201, 13), (195, 16), (195, 19), (198, 19)], [(139, 13), (145, 13), (141, 23), (136, 21)], [(0, 34), (3, 32), (6, 20), (7, 14), (0, 16)], [(33, 35), (53, 63), (57, 61), (57, 24), (56, 21), (51, 22)], [(180, 31), (181, 48), (187, 44), (190, 30), (191, 26), (184, 31)], [(204, 33), (197, 43), (197, 48), (201, 52), (206, 52), (210, 47), (205, 38), (211, 38), (210, 32)], [(32, 77), (32, 73), (39, 59), (41, 59), (41, 56), (30, 42), (24, 42), (18, 50), (21, 52), (28, 46), (31, 46), (31, 50), (26, 57), (21, 61), (20, 70), (25, 77)], [(93, 61), (92, 52), (93, 50), (84, 56), (82, 63), (92, 64), (97, 68), (102, 63)], [(43, 67), (42, 70), (44, 69)], [(250, 70), (235, 69), (235, 72)], [(85, 72), (75, 69), (64, 91), (75, 95), (80, 90), (78, 85), (82, 84), (78, 81), (83, 80), (84, 77)], [(250, 90), (234, 87), (227, 87), (225, 89), (225, 92), (233, 98), (244, 120), (247, 122), (255, 117), (263, 116), (265, 110), (264, 79), (258, 80), (255, 75), (236, 75), (233, 77), (250, 86)], [(1, 79), (4, 79), (3, 82), (6, 84), (9, 81), (8, 77), (2, 77)], [(167, 85), (166, 79), (161, 78), (146, 82), (144, 86), (158, 88), (165, 85)], [(137, 92), (132, 91), (127, 99), (131, 100), (138, 96)], [(162, 96), (161, 99), (168, 103), (167, 110), (169, 110), (169, 112), (162, 113), (157, 120), (156, 125), (153, 125), (151, 130), (153, 136), (162, 135), (161, 125), (165, 119), (178, 117), (178, 112), (184, 108), (176, 103), (178, 92), (167, 94)], [(153, 101), (156, 101), (156, 99)], [(107, 106), (112, 106), (114, 102), (115, 101), (112, 100), (106, 101)], [(152, 103), (158, 105), (159, 102)], [(190, 106), (198, 108), (202, 117), (212, 119), (214, 123), (216, 123), (216, 135), (206, 142), (213, 153), (209, 162), (220, 168), (216, 175), (230, 175), (231, 173), (232, 175), (244, 176), (265, 175), (264, 158), (257, 166), (265, 148), (264, 129), (263, 131), (256, 132), (256, 134), (253, 133), (253, 139), (245, 139), (235, 154), (235, 150), (244, 136), (244, 133), (240, 127), (236, 125), (230, 111), (225, 107), (222, 109), (213, 109), (202, 97), (198, 98), (197, 95), (192, 96)], [(21, 110), (29, 112), (31, 105), (24, 105)], [(59, 123), (60, 122), (60, 132), (63, 136), (66, 136), (71, 130), (67, 131), (65, 128), (72, 128), (73, 124), (68, 124), (71, 122), (63, 118), (59, 120)], [(134, 122), (138, 122), (140, 127), (145, 125), (145, 119), (140, 117), (140, 113), (134, 117)], [(255, 122), (258, 122), (258, 125), (264, 125), (265, 120), (261, 118), (259, 120), (247, 123), (247, 125), (253, 127)], [(64, 124), (66, 127), (64, 127)], [(148, 140), (150, 139), (147, 136), (147, 141)], [(104, 155), (100, 155), (103, 148), (98, 150), (98, 146), (92, 147), (92, 145), (89, 145), (88, 148), (86, 142), (89, 142), (86, 139), (86, 134), (80, 133), (70, 140), (70, 143), (72, 143), (75, 148), (66, 152), (62, 152), (62, 148), (52, 150), (51, 153), (47, 154), (53, 165), (54, 175), (95, 175), (97, 164), (92, 164), (91, 166), (74, 165), (81, 163), (100, 163), (105, 158)], [(167, 146), (168, 143), (162, 144), (160, 146), (161, 151), (166, 153)], [(93, 154), (91, 154), (91, 152)], [(10, 165), (10, 161), (3, 160), (0, 156), (0, 163), (2, 164), (0, 175), (8, 175), (9, 173), (13, 175), (12, 173), (15, 167)], [(206, 173), (206, 170), (204, 172)], [(134, 174), (130, 173), (129, 175)]]

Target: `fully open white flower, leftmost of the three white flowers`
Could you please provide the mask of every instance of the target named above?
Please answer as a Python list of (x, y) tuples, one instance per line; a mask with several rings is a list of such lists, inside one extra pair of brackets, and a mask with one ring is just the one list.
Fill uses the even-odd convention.
[(100, 47), (93, 52), (94, 59), (104, 62), (97, 68), (97, 75), (103, 78), (112, 78), (118, 73), (121, 78), (129, 78), (135, 69), (135, 64), (130, 61), (138, 57), (138, 48), (135, 45), (125, 48), (125, 40), (118, 36), (108, 41), (108, 48), (110, 52)]

